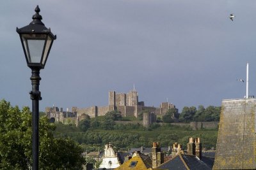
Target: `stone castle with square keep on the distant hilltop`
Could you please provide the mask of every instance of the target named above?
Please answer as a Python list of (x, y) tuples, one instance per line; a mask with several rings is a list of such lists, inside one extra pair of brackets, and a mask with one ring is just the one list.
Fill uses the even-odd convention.
[(91, 106), (89, 108), (72, 107), (72, 110), (67, 109), (63, 111), (62, 108), (47, 107), (45, 113), (47, 117), (54, 118), (56, 122), (68, 123), (69, 121), (76, 121), (83, 119), (83, 115), (92, 117), (104, 116), (108, 111), (118, 110), (122, 117), (138, 117), (139, 113), (150, 112), (155, 115), (164, 115), (170, 108), (175, 108), (172, 103), (161, 103), (158, 108), (154, 106), (145, 106), (143, 101), (138, 101), (138, 92), (133, 89), (128, 93), (116, 93), (115, 91), (109, 92), (108, 106)]

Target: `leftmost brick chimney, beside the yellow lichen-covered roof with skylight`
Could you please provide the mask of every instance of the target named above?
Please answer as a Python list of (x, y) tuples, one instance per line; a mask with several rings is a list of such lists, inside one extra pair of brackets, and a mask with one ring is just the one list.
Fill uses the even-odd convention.
[(154, 142), (152, 147), (152, 168), (156, 168), (163, 164), (164, 162), (164, 153), (161, 152), (159, 143)]

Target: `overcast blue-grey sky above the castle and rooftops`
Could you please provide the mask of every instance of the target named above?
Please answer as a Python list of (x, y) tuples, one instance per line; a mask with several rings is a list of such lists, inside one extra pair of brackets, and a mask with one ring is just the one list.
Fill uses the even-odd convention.
[[(256, 95), (256, 1), (81, 0), (0, 3), (0, 99), (29, 106), (31, 69), (16, 32), (36, 5), (57, 35), (40, 71), (40, 110), (108, 105), (108, 92), (129, 92), (159, 106), (221, 106), (242, 98), (246, 62)], [(228, 17), (234, 13), (234, 22)]]

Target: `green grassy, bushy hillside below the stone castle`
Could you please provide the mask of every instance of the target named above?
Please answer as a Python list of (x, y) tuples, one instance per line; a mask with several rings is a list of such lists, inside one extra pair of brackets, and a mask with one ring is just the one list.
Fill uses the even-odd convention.
[(216, 147), (218, 129), (192, 131), (188, 127), (177, 127), (171, 124), (153, 124), (147, 129), (141, 125), (116, 124), (113, 130), (104, 130), (99, 127), (83, 132), (75, 125), (56, 124), (54, 136), (72, 138), (88, 151), (102, 150), (109, 142), (116, 149), (151, 147), (153, 142), (159, 142), (161, 146), (172, 146), (173, 143), (178, 142), (186, 149), (189, 137), (200, 137), (202, 146), (210, 149)]

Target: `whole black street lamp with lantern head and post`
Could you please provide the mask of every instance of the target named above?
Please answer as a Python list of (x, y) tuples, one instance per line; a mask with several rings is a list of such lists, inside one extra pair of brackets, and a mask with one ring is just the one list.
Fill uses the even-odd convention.
[(22, 28), (16, 29), (20, 35), (20, 41), (25, 53), (28, 67), (32, 70), (30, 78), (32, 83), (32, 91), (29, 92), (32, 100), (33, 113), (33, 141), (32, 141), (32, 155), (33, 155), (33, 170), (38, 169), (38, 153), (39, 153), (39, 134), (38, 134), (38, 119), (39, 119), (39, 100), (42, 100), (41, 92), (39, 91), (40, 84), (40, 69), (44, 69), (47, 57), (51, 50), (52, 43), (56, 39), (41, 21), (42, 16), (39, 14), (40, 8), (36, 6), (33, 21)]

